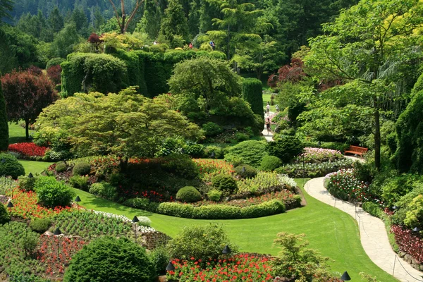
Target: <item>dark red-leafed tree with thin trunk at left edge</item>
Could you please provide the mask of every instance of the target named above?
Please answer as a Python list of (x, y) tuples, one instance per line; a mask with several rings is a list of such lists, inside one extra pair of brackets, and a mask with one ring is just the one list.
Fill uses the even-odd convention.
[(46, 75), (31, 71), (13, 71), (1, 78), (9, 121), (25, 121), (25, 135), (29, 139), (30, 123), (42, 109), (58, 99), (53, 83)]

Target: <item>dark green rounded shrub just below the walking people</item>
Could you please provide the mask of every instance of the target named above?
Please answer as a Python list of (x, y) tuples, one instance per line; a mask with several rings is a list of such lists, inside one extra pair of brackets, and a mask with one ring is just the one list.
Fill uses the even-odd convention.
[(284, 164), (301, 154), (303, 148), (301, 140), (293, 136), (284, 136), (280, 140), (269, 142), (266, 147), (271, 156), (278, 157)]

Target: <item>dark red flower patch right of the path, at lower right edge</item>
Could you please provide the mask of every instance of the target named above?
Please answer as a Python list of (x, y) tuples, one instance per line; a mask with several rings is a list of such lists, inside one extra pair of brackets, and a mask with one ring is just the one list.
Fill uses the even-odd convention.
[(391, 226), (396, 243), (402, 252), (410, 254), (414, 259), (423, 262), (423, 240), (410, 229), (403, 229), (398, 225)]

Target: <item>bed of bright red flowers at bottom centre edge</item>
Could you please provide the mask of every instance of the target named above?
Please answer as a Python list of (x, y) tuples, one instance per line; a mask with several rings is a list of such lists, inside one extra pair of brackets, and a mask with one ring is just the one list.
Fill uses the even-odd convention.
[(168, 271), (168, 279), (179, 281), (271, 281), (269, 257), (263, 255), (239, 254), (228, 259), (202, 262), (192, 257), (190, 260), (174, 259), (175, 271)]

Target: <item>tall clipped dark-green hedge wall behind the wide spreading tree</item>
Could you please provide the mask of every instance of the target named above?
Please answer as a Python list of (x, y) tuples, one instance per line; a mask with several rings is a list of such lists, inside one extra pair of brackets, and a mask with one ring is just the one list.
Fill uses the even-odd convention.
[(91, 91), (103, 93), (118, 92), (128, 86), (139, 86), (138, 92), (146, 97), (155, 97), (168, 92), (167, 80), (176, 63), (199, 56), (226, 59), (219, 51), (166, 52), (124, 51), (117, 49), (113, 54), (82, 54), (68, 56), (62, 66), (62, 96), (81, 92), (82, 81)]

